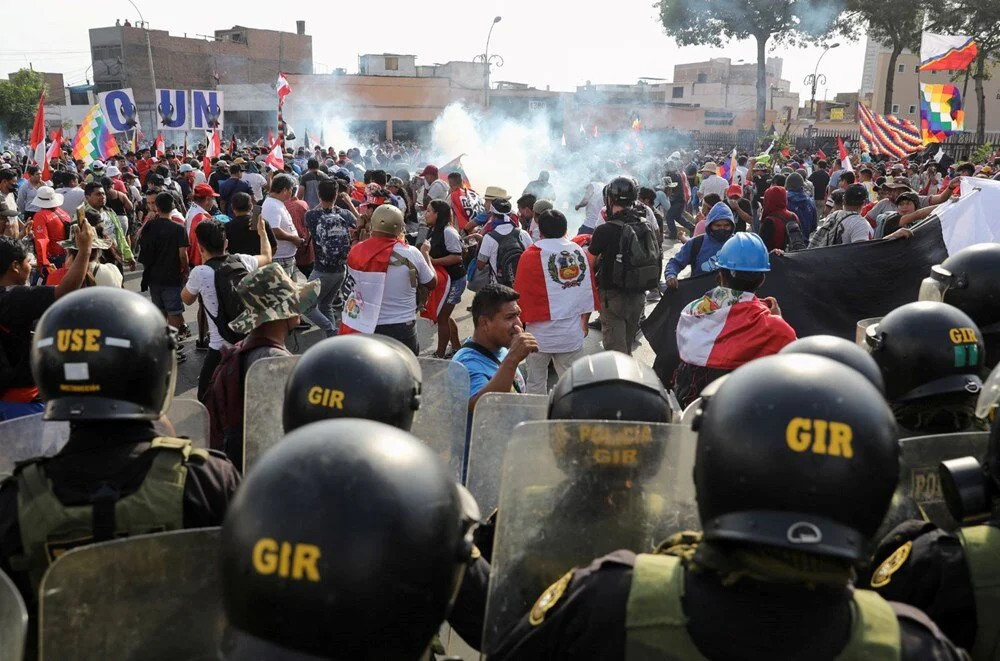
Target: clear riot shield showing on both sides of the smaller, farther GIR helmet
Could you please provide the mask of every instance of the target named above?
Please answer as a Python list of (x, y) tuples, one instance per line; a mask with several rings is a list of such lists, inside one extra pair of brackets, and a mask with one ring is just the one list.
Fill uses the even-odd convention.
[[(258, 360), (247, 370), (243, 404), (243, 470), (285, 435), (285, 384), (298, 356)], [(460, 363), (420, 358), (423, 386), (411, 433), (461, 475), (469, 401), (469, 373)]]

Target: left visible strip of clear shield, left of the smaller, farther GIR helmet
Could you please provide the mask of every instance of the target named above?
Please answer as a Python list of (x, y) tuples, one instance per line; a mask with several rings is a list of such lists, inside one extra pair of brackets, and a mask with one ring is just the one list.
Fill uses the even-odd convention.
[(298, 356), (262, 358), (247, 370), (243, 391), (243, 472), (285, 435), (285, 384)]

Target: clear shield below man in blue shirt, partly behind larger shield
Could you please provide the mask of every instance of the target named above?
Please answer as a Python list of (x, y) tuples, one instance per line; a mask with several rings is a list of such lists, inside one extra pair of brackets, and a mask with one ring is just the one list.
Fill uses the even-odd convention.
[(545, 395), (508, 392), (486, 393), (476, 402), (465, 486), (476, 497), (483, 516), (489, 516), (500, 501), (503, 456), (514, 427), (545, 420), (548, 407)]

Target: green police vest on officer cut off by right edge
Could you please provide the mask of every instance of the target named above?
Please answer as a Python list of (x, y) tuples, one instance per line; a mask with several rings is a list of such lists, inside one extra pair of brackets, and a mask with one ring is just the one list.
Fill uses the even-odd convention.
[(972, 658), (1000, 659), (1000, 530), (973, 526), (958, 531), (976, 600)]

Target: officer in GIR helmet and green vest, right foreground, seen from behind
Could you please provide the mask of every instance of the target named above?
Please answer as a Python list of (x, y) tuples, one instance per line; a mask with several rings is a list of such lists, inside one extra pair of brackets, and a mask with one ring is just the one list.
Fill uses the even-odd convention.
[(830, 359), (738, 368), (697, 429), (704, 534), (574, 569), (491, 660), (962, 658), (923, 613), (850, 584), (895, 488), (895, 426)]

